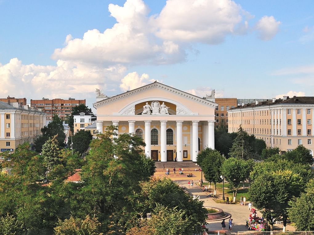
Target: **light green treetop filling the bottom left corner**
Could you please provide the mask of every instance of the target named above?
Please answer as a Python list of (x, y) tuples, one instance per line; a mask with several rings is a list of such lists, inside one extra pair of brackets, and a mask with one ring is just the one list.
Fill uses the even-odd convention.
[(0, 234), (22, 235), (25, 234), (23, 225), (13, 215), (7, 214), (0, 217)]

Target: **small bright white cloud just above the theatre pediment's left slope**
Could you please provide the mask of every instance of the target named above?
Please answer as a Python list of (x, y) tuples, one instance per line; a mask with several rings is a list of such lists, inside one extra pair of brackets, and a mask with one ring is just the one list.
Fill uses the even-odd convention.
[(120, 88), (122, 91), (129, 91), (152, 82), (154, 82), (154, 79), (149, 80), (149, 75), (146, 73), (143, 73), (140, 77), (137, 72), (130, 72), (122, 78)]

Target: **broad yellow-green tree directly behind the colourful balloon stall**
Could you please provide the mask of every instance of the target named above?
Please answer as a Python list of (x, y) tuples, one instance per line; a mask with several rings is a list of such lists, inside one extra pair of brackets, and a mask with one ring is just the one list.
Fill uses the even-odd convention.
[(289, 201), (300, 195), (304, 181), (299, 174), (291, 170), (271, 171), (257, 176), (249, 189), (249, 197), (254, 206), (263, 210), (268, 222), (282, 217), (283, 231), (287, 224)]

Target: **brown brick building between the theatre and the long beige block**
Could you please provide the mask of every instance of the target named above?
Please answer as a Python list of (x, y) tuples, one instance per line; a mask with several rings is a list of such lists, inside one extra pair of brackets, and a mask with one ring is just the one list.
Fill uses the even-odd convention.
[(235, 108), (237, 106), (236, 98), (215, 98), (215, 103), (218, 104), (218, 107), (215, 109), (215, 128), (218, 128), (220, 125), (228, 128), (228, 110)]

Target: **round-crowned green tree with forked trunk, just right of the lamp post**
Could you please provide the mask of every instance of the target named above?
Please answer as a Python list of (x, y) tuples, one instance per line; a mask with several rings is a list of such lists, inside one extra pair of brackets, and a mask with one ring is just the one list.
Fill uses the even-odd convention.
[(233, 192), (233, 201), (236, 201), (241, 182), (249, 178), (250, 164), (242, 158), (228, 158), (222, 164), (221, 170)]

